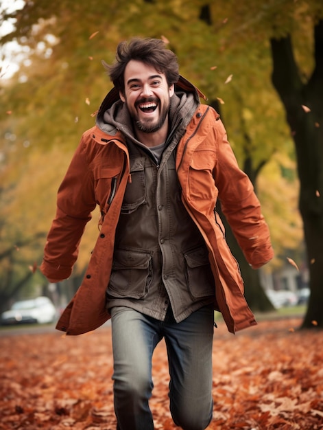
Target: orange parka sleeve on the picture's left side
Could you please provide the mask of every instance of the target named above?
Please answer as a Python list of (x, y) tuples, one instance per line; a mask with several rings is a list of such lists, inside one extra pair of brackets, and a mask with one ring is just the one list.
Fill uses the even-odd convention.
[(50, 282), (69, 278), (77, 260), (86, 223), (95, 209), (93, 174), (86, 160), (83, 139), (58, 189), (53, 219), (40, 271)]

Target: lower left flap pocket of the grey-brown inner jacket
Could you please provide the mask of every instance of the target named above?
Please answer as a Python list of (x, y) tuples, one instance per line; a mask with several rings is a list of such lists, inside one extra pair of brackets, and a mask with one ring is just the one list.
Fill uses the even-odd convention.
[(108, 297), (142, 299), (152, 282), (152, 255), (117, 249), (113, 255)]

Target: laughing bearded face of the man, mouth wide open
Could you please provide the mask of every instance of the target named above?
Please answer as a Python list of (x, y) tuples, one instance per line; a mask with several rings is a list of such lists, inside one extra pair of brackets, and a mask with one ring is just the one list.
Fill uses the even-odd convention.
[(167, 133), (169, 99), (174, 94), (174, 85), (169, 87), (165, 73), (141, 61), (130, 60), (125, 67), (124, 82), (120, 98), (127, 105), (136, 130)]

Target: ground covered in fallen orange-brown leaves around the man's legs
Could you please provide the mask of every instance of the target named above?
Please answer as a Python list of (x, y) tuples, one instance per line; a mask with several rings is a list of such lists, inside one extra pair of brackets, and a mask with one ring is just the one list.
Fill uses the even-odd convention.
[[(300, 319), (265, 321), (230, 335), (215, 329), (214, 419), (208, 429), (323, 429), (323, 333)], [(115, 430), (108, 326), (79, 337), (60, 332), (0, 338), (0, 429)], [(156, 429), (169, 414), (167, 354), (154, 354)]]

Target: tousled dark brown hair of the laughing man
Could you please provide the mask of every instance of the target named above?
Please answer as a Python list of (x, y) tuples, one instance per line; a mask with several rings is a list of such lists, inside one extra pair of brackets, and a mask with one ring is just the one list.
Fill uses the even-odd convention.
[(107, 65), (102, 62), (108, 70), (110, 80), (112, 80), (118, 91), (124, 93), (125, 67), (130, 60), (142, 61), (152, 65), (159, 73), (165, 73), (167, 84), (175, 84), (179, 78), (178, 60), (176, 54), (167, 49), (165, 43), (155, 38), (132, 38), (129, 42), (121, 42), (117, 46), (115, 63)]

